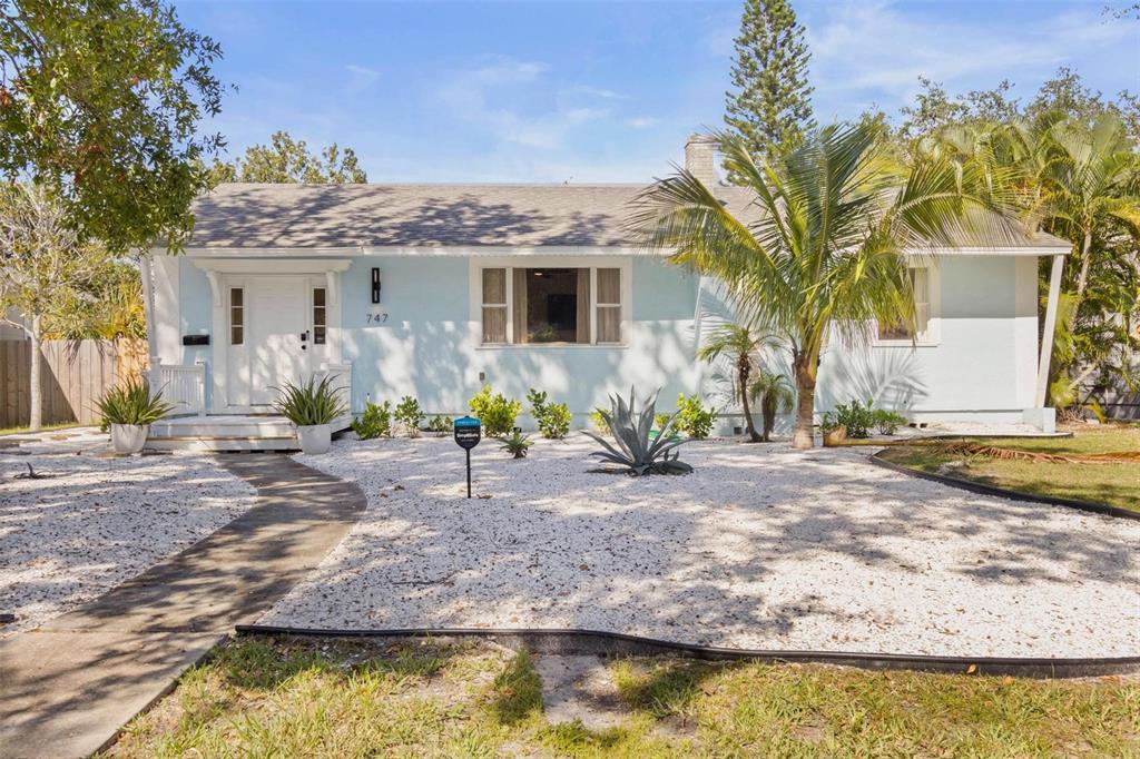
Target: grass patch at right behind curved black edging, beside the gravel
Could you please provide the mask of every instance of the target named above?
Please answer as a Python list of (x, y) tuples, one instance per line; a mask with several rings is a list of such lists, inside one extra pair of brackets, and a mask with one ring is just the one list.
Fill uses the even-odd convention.
[[(1073, 438), (976, 439), (974, 442), (1043, 454), (1107, 454), (1140, 450), (1140, 425), (1137, 424), (1078, 425), (1070, 430), (1074, 433)], [(1076, 498), (1140, 511), (1138, 464), (1047, 464), (980, 456), (963, 458), (961, 455), (939, 452), (936, 448), (925, 446), (887, 448), (881, 457), (925, 472), (938, 472), (939, 467), (961, 462), (962, 466), (954, 466), (950, 471), (953, 476), (1021, 492)]]

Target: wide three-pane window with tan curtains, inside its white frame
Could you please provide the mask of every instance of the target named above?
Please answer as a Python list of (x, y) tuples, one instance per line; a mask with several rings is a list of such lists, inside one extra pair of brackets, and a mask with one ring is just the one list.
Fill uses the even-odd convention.
[(496, 267), (480, 276), (484, 345), (622, 343), (619, 268)]

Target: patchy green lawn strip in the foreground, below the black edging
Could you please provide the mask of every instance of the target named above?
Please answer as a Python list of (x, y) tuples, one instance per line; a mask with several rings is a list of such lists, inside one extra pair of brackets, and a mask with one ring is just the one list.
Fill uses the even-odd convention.
[(1140, 754), (1140, 682), (621, 660), (625, 717), (551, 725), (530, 655), (477, 643), (241, 638), (136, 719), (120, 757)]

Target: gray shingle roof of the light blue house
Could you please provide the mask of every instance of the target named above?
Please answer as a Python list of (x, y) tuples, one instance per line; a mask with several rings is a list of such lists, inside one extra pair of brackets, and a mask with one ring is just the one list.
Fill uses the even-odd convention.
[[(220, 185), (192, 247), (620, 246), (642, 185)], [(746, 213), (750, 193), (718, 188)], [(1017, 246), (1052, 246), (1048, 235)]]

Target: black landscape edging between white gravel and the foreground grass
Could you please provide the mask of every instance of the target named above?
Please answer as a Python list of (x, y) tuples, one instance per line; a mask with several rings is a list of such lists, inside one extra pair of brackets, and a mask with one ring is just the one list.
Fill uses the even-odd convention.
[(538, 654), (606, 656), (677, 656), (707, 661), (756, 661), (764, 663), (815, 663), (858, 669), (903, 669), (953, 675), (1010, 675), (1031, 678), (1098, 677), (1140, 672), (1140, 656), (1102, 659), (1028, 659), (1000, 656), (927, 656), (910, 654), (839, 651), (755, 651), (674, 643), (604, 630), (471, 628), (345, 630), (238, 625), (242, 635), (274, 635), (326, 638), (486, 638), (512, 648), (526, 647)]

